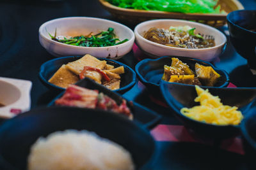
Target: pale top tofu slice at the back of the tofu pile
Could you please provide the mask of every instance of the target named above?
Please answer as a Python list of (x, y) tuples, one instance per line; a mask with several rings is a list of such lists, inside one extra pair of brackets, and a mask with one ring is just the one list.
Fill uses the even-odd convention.
[(86, 54), (79, 60), (68, 62), (67, 68), (73, 73), (79, 75), (83, 71), (84, 66), (97, 67), (98, 69), (104, 69), (106, 67), (106, 60), (99, 60), (92, 55)]

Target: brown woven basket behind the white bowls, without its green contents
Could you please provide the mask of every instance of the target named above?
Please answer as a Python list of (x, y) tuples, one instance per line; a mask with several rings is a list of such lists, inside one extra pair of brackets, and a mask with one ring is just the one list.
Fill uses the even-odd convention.
[[(164, 11), (132, 10), (119, 8), (105, 0), (99, 0), (99, 2), (103, 8), (108, 10), (114, 17), (118, 18), (119, 20), (131, 22), (132, 24), (138, 24), (145, 20), (152, 20), (157, 18), (193, 20), (195, 22), (211, 25), (213, 27), (221, 27), (226, 24), (227, 14), (175, 13)], [(220, 4), (221, 10), (225, 10), (227, 13), (230, 11), (244, 9), (243, 5), (237, 0), (219, 0), (218, 4)]]

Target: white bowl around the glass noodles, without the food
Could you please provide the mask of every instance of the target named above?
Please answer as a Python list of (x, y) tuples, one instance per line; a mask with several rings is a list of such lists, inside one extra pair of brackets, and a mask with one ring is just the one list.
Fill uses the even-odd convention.
[[(145, 32), (152, 27), (169, 29), (170, 26), (184, 26), (189, 25), (190, 27), (195, 27), (195, 33), (200, 33), (204, 35), (214, 36), (215, 46), (210, 48), (177, 48), (172, 46), (161, 45), (159, 43), (154, 43), (148, 39), (143, 38)], [(200, 24), (197, 22), (191, 22), (186, 20), (172, 20), (172, 19), (161, 19), (161, 20), (149, 20), (146, 22), (141, 22), (134, 29), (136, 45), (145, 52), (148, 53), (153, 58), (158, 58), (164, 55), (176, 55), (182, 57), (193, 57), (196, 59), (211, 61), (215, 57), (221, 55), (225, 49), (225, 44), (227, 42), (226, 36), (209, 25)]]

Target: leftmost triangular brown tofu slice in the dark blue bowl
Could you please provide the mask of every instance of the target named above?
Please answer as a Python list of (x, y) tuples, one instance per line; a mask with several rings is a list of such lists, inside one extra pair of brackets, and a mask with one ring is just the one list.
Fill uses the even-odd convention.
[(58, 87), (67, 88), (68, 85), (74, 84), (79, 80), (79, 76), (72, 73), (67, 69), (67, 66), (63, 64), (56, 73), (50, 78), (49, 83), (52, 83)]

